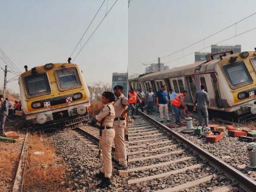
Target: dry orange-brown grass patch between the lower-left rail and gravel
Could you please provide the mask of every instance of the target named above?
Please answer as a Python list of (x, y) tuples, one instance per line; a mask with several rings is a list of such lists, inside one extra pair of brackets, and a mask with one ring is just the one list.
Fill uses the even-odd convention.
[[(44, 154), (36, 155), (40, 151)], [(25, 174), (25, 191), (66, 191), (60, 182), (65, 174), (62, 159), (55, 157), (51, 142), (42, 135), (31, 135)]]

